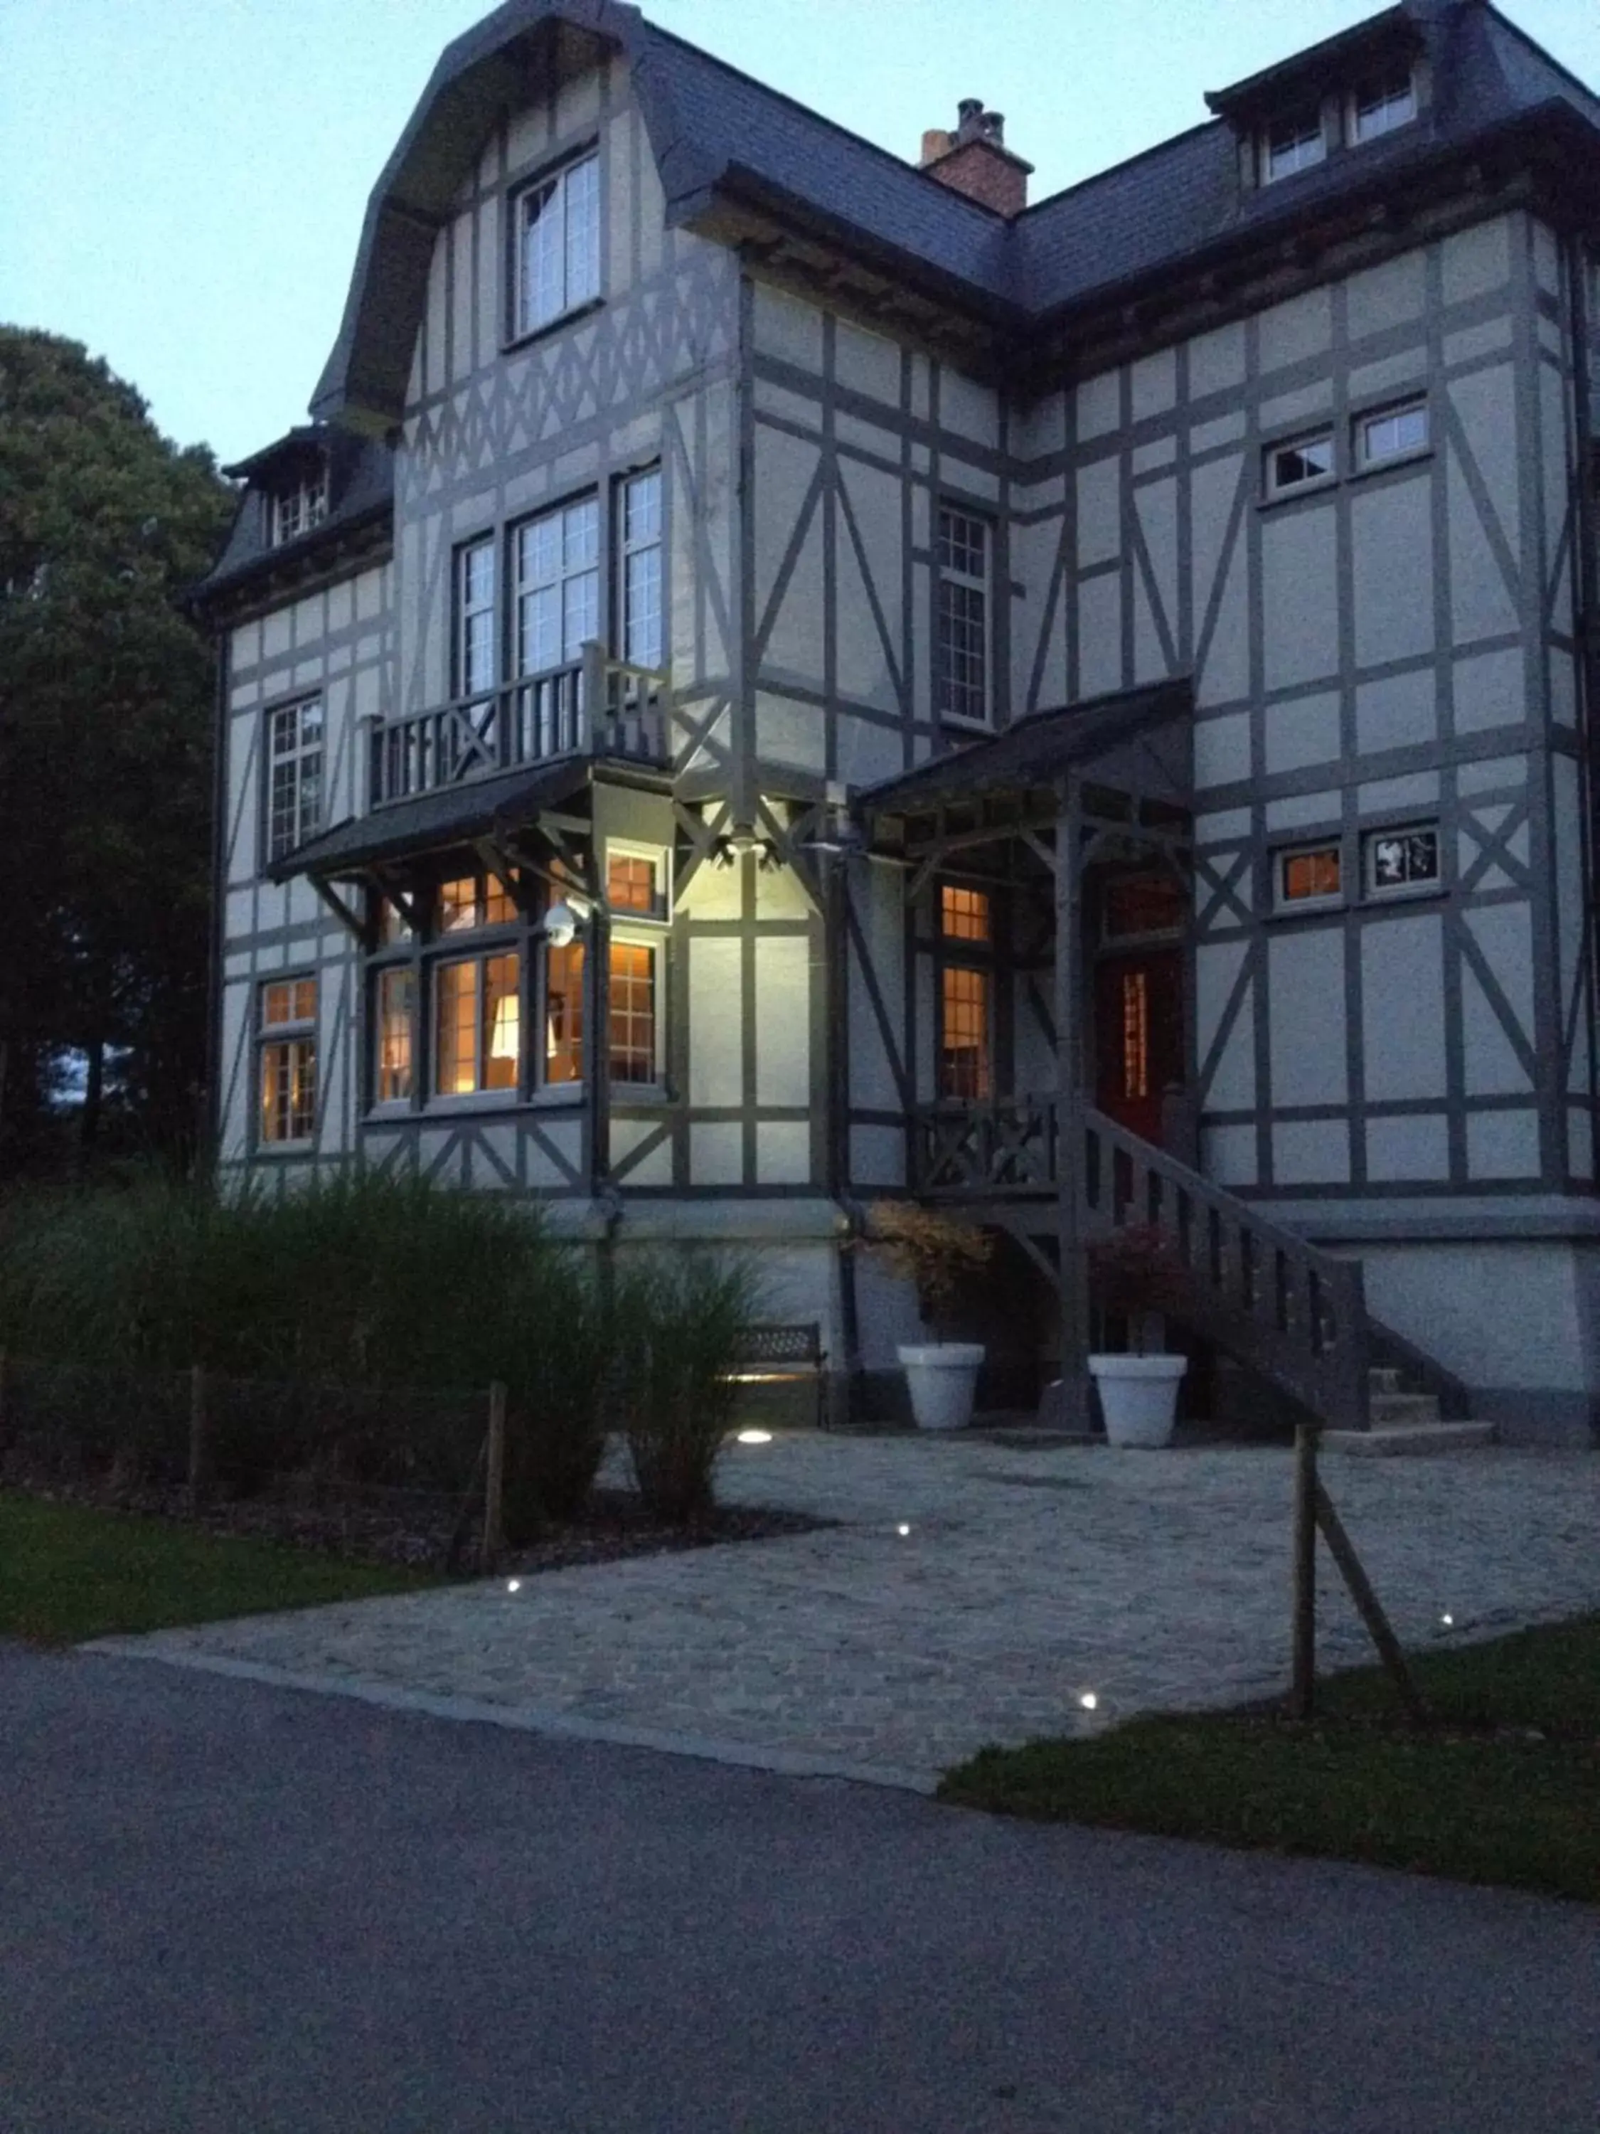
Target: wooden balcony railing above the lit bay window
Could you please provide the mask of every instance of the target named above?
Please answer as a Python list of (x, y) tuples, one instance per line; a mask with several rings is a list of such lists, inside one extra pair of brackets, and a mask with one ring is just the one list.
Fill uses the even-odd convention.
[(668, 676), (610, 659), (582, 659), (484, 696), (439, 704), (371, 730), (371, 807), (495, 777), (559, 755), (666, 762)]

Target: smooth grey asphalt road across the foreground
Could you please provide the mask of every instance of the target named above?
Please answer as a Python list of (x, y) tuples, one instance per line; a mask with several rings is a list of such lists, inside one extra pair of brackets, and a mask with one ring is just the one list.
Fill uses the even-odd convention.
[(1591, 2134), (1600, 1914), (0, 1647), (4, 2134)]

